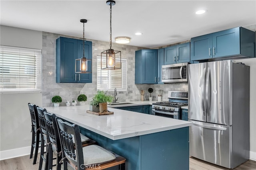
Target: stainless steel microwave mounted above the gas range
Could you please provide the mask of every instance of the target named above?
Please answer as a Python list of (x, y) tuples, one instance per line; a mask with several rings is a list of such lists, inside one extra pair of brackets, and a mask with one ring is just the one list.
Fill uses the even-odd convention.
[(188, 63), (162, 65), (162, 82), (188, 82)]

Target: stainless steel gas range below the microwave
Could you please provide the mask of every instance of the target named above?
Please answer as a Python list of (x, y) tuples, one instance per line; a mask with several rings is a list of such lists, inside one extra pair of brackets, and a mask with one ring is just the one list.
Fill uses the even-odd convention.
[(168, 91), (169, 102), (152, 104), (154, 115), (181, 119), (181, 106), (188, 106), (188, 92)]

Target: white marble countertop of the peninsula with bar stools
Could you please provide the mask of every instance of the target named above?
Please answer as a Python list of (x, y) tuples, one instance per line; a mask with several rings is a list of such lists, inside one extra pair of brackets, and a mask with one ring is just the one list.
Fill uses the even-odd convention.
[(108, 107), (108, 110), (114, 111), (114, 114), (101, 116), (86, 113), (86, 110), (89, 110), (89, 105), (45, 108), (50, 113), (55, 113), (59, 117), (112, 140), (178, 129), (193, 124), (189, 121), (110, 107)]

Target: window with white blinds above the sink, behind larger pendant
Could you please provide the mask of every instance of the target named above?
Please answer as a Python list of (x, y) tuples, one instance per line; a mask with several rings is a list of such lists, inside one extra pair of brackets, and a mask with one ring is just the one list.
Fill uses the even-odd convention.
[[(121, 59), (122, 67), (117, 70), (102, 70), (100, 56), (97, 57), (97, 89), (112, 91), (116, 88), (119, 91), (126, 91), (127, 87), (127, 60)], [(106, 62), (103, 59), (102, 62)]]

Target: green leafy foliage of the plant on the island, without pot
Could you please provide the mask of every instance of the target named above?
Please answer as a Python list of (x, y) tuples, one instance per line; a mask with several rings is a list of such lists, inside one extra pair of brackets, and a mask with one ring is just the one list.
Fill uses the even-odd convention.
[(90, 105), (92, 106), (99, 106), (100, 103), (110, 103), (114, 99), (113, 96), (107, 95), (107, 91), (100, 91), (98, 90), (97, 93), (92, 98), (92, 101), (90, 101)]

